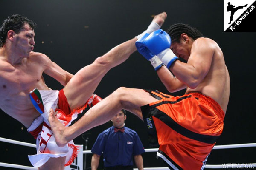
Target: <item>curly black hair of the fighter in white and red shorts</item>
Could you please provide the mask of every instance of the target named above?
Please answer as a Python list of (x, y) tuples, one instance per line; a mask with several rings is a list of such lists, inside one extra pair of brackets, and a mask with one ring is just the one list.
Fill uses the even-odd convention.
[(25, 24), (29, 24), (30, 28), (33, 30), (36, 28), (36, 23), (32, 20), (29, 20), (27, 17), (24, 17), (19, 14), (11, 14), (3, 21), (3, 24), (0, 28), (0, 47), (3, 47), (6, 42), (7, 32), (13, 30), (18, 34)]

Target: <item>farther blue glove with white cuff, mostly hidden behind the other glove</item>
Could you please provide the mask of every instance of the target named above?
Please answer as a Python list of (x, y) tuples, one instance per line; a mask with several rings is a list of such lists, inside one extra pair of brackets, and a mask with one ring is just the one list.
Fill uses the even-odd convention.
[(144, 44), (144, 40), (149, 36), (149, 34), (144, 34), (142, 37), (140, 37), (136, 42), (135, 42), (135, 46), (137, 48), (137, 50), (139, 51), (140, 54), (143, 55), (143, 57), (145, 57), (145, 59), (147, 59), (148, 61), (151, 62), (151, 64), (153, 65), (155, 70), (158, 70), (163, 62), (156, 56), (154, 55)]

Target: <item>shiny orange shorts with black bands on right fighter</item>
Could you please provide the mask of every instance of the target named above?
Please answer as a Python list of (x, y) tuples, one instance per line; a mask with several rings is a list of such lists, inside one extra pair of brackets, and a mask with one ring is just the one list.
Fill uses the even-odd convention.
[(145, 90), (157, 102), (141, 107), (157, 158), (172, 170), (201, 170), (223, 130), (224, 112), (209, 96), (190, 92), (170, 96)]

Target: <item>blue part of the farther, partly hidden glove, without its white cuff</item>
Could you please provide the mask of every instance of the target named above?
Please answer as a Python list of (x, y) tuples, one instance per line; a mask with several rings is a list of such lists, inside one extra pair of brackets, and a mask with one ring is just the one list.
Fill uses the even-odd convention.
[(148, 33), (143, 35), (135, 42), (135, 46), (140, 54), (142, 54), (148, 61), (154, 57), (154, 54), (143, 44), (144, 40), (149, 36)]

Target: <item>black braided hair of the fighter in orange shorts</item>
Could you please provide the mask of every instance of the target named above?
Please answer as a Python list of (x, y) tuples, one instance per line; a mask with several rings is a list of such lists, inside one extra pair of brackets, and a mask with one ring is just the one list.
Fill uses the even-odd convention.
[(181, 24), (181, 23), (170, 26), (167, 33), (170, 35), (172, 42), (180, 42), (180, 35), (182, 33), (186, 33), (193, 40), (196, 40), (200, 37), (205, 37), (196, 28), (193, 28), (187, 24)]

